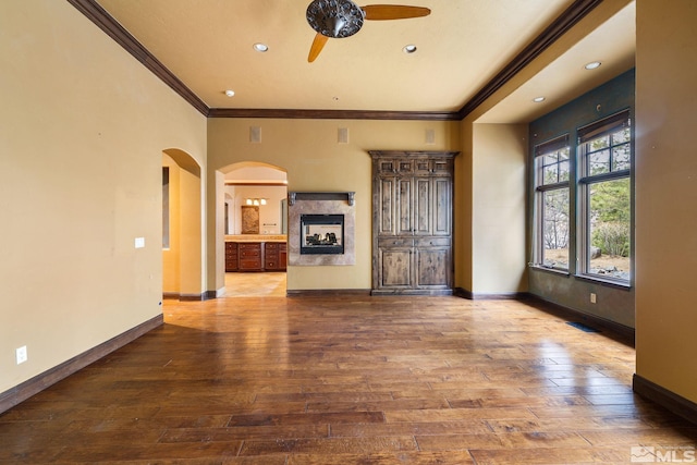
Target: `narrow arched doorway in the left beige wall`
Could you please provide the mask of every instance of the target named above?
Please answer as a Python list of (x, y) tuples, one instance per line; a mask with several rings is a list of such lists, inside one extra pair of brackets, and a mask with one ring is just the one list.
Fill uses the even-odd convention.
[(162, 150), (162, 294), (203, 299), (200, 166), (183, 150)]

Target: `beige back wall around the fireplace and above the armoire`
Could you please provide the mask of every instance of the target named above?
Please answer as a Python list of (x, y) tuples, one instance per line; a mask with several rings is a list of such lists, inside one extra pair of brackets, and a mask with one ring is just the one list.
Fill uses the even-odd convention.
[[(371, 149), (457, 150), (457, 122), (211, 119), (208, 122), (209, 250), (219, 250), (222, 231), (212, 212), (217, 197), (210, 176), (242, 161), (265, 162), (288, 171), (289, 191), (356, 193), (356, 265), (289, 267), (289, 290), (371, 286)], [(261, 127), (261, 143), (249, 142), (249, 127)], [(339, 127), (348, 129), (348, 144), (338, 143)], [(426, 144), (433, 130), (436, 144)], [(219, 197), (219, 196), (218, 196)], [(213, 264), (212, 257), (208, 262)], [(208, 281), (220, 289), (223, 270), (209, 266)], [(209, 287), (209, 291), (212, 289)]]

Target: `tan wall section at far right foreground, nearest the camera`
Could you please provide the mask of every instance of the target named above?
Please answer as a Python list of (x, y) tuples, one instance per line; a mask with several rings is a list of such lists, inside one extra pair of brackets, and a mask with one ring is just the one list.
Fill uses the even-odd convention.
[(637, 375), (697, 402), (697, 2), (637, 0)]

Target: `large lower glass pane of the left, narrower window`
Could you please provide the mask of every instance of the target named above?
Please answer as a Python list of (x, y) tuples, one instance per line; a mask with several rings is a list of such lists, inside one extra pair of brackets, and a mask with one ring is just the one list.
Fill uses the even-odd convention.
[(542, 193), (542, 265), (568, 269), (568, 188)]

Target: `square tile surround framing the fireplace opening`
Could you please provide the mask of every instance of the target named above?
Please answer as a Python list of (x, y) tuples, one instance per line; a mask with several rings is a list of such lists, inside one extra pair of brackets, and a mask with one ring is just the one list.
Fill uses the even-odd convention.
[[(343, 215), (343, 254), (301, 254), (303, 215)], [(291, 266), (355, 265), (355, 207), (353, 192), (290, 192), (288, 207), (288, 264)]]

